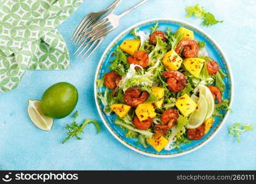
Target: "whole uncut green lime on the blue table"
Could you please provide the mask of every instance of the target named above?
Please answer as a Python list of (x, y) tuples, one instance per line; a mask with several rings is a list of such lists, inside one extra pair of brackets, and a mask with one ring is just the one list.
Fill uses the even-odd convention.
[(50, 86), (42, 95), (42, 112), (52, 118), (64, 118), (78, 103), (78, 90), (67, 82)]

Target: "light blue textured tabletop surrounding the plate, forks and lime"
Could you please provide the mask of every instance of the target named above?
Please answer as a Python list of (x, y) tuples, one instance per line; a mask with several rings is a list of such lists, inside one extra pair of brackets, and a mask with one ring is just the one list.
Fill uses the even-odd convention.
[[(111, 0), (86, 0), (79, 9), (58, 26), (70, 51), (70, 69), (67, 71), (27, 71), (20, 86), (10, 93), (0, 94), (0, 169), (68, 169), (68, 170), (200, 170), (200, 169), (256, 169), (255, 131), (242, 134), (241, 143), (229, 136), (228, 126), (234, 122), (255, 125), (255, 1), (190, 1), (150, 0), (122, 18), (118, 29), (109, 34), (102, 45), (83, 63), (75, 58), (75, 47), (70, 36), (89, 12), (102, 10)], [(122, 1), (116, 13), (132, 6), (138, 0)], [(198, 3), (212, 12), (222, 24), (201, 26), (201, 20), (185, 17), (185, 7)], [(177, 158), (151, 158), (125, 147), (114, 139), (100, 120), (94, 102), (94, 76), (105, 48), (121, 31), (139, 21), (151, 18), (175, 18), (188, 21), (212, 36), (226, 53), (234, 74), (233, 113), (222, 129), (204, 147)], [(31, 123), (26, 113), (28, 99), (41, 99), (42, 93), (54, 83), (70, 82), (78, 88), (79, 123), (84, 118), (100, 121), (102, 131), (96, 134), (88, 125), (84, 139), (72, 139), (62, 145), (65, 124), (71, 116), (55, 120), (52, 131), (45, 132)]]

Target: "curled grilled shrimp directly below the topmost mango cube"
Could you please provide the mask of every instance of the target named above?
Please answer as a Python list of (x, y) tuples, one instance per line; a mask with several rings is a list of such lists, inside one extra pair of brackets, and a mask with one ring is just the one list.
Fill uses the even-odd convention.
[(199, 53), (199, 45), (195, 40), (183, 38), (178, 43), (175, 52), (183, 55), (185, 58), (196, 58)]

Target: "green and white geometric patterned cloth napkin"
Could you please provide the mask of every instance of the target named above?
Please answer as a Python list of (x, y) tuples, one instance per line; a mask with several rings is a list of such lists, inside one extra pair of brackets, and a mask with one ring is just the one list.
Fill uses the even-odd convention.
[(0, 0), (0, 93), (17, 88), (27, 69), (68, 69), (56, 26), (82, 0)]

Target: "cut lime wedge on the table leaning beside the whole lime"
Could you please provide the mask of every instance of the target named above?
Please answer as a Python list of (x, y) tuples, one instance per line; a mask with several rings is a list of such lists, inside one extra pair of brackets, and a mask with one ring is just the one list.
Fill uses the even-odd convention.
[(38, 128), (44, 131), (50, 131), (50, 129), (52, 129), (54, 119), (47, 117), (42, 113), (41, 101), (28, 100), (28, 115), (30, 117), (30, 120)]

